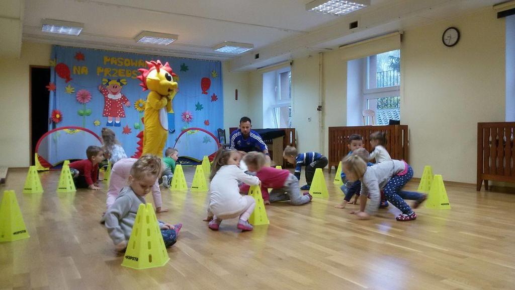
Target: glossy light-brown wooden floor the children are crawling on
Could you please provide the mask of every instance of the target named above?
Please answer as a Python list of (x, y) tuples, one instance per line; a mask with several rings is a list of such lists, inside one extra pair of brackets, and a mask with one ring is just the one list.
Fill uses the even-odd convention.
[(166, 266), (132, 270), (98, 222), (105, 190), (57, 194), (54, 171), (40, 173), (43, 194), (22, 194), (25, 175), (10, 169), (0, 186), (16, 191), (30, 234), (0, 243), (0, 289), (515, 289), (513, 194), (447, 185), (452, 210), (398, 222), (390, 206), (361, 221), (355, 206), (334, 208), (342, 194), (327, 176), (329, 200), (274, 203), (270, 225), (241, 233), (236, 220), (208, 229), (206, 193), (164, 189), (170, 212), (158, 218), (184, 224), (179, 240)]

